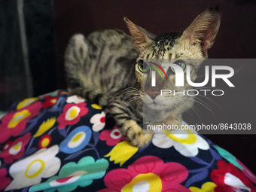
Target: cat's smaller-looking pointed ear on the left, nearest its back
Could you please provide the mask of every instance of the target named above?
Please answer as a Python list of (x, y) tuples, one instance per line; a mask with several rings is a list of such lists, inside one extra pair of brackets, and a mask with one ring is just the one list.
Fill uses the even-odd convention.
[(154, 40), (154, 38), (157, 36), (151, 32), (148, 32), (142, 27), (137, 26), (126, 17), (123, 17), (123, 20), (126, 22), (130, 34), (132, 35), (134, 45), (139, 51), (142, 51), (143, 47), (145, 47), (146, 44), (150, 43), (150, 41)]

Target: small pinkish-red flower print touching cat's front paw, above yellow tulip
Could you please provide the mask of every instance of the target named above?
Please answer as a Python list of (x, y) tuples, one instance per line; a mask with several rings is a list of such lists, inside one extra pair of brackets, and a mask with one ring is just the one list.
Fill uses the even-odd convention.
[(102, 131), (99, 139), (106, 141), (107, 145), (109, 146), (117, 145), (117, 143), (119, 143), (121, 140), (125, 140), (117, 126), (114, 126), (114, 128), (111, 130)]

